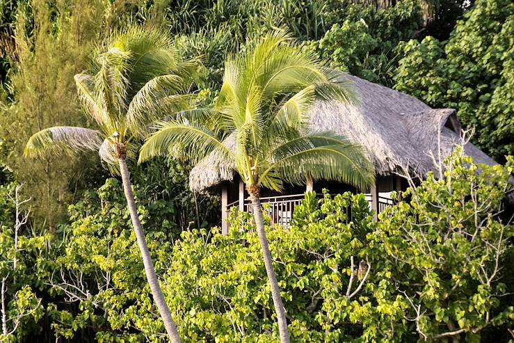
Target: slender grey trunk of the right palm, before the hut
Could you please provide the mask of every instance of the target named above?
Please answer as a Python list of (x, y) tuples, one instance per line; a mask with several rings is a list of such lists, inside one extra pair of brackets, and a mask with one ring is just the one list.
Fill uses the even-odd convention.
[(264, 221), (262, 218), (262, 206), (259, 194), (250, 194), (252, 200), (253, 215), (255, 217), (255, 226), (257, 227), (257, 235), (262, 248), (262, 255), (264, 257), (264, 266), (266, 266), (266, 274), (271, 285), (271, 296), (273, 297), (273, 305), (275, 305), (275, 312), (277, 313), (278, 332), (280, 333), (280, 342), (289, 343), (289, 330), (287, 328), (286, 312), (284, 303), (280, 297), (280, 288), (278, 287), (277, 276), (273, 269), (273, 262), (271, 260), (271, 253), (269, 250), (268, 239), (266, 238), (266, 231), (264, 231)]

